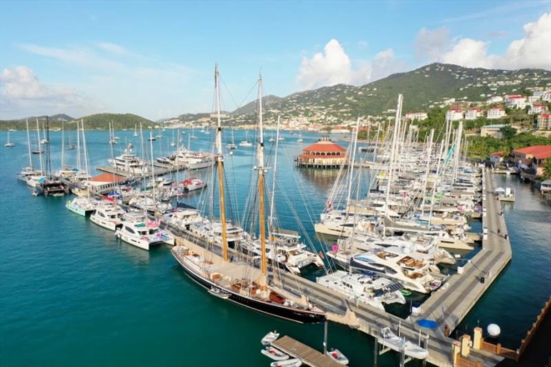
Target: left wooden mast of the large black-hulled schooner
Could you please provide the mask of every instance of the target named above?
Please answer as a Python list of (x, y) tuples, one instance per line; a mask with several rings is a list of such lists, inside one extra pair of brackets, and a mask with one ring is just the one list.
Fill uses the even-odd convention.
[(218, 198), (220, 200), (220, 226), (222, 227), (222, 259), (228, 261), (226, 233), (226, 199), (224, 191), (224, 156), (222, 154), (222, 123), (220, 121), (220, 83), (218, 64), (214, 66), (214, 90), (216, 92), (216, 166), (218, 168)]

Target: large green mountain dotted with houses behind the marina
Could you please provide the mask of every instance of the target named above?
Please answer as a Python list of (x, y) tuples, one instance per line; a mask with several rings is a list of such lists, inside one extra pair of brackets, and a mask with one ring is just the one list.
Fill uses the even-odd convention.
[[(456, 101), (486, 101), (489, 96), (523, 93), (527, 87), (551, 83), (547, 70), (487, 70), (433, 63), (419, 69), (393, 74), (360, 87), (338, 84), (307, 90), (280, 98), (267, 96), (264, 118), (306, 117), (311, 122), (338, 123), (355, 116), (380, 115), (394, 109), (398, 94), (404, 94), (404, 114), (427, 110), (449, 98)], [(242, 123), (256, 118), (256, 101), (232, 113)]]

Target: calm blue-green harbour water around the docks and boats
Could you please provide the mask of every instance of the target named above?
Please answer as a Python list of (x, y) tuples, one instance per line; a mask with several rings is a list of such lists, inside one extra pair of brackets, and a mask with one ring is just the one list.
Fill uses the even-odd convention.
[[(72, 132), (71, 134), (74, 134)], [(213, 135), (196, 131), (191, 149), (209, 151)], [(132, 132), (117, 132), (121, 143)], [(278, 156), (278, 218), (300, 231), (287, 199), (313, 238), (316, 220), (335, 180), (335, 172), (293, 167), (293, 156), (318, 135), (283, 134)], [(245, 136), (237, 132), (238, 143)], [(156, 155), (169, 151), (172, 133), (155, 142)], [(107, 132), (87, 132), (90, 165), (110, 158)], [(252, 140), (249, 134), (249, 140)], [(6, 132), (0, 133), (0, 142)], [(54, 132), (52, 169), (61, 162), (61, 133)], [(187, 136), (183, 136), (187, 145)], [(226, 133), (229, 140), (229, 132)], [(269, 330), (291, 335), (322, 348), (321, 325), (299, 325), (247, 311), (211, 297), (191, 282), (171, 257), (168, 247), (142, 251), (116, 242), (103, 230), (65, 209), (65, 198), (34, 198), (15, 178), (28, 165), (24, 132), (12, 133), (17, 144), (0, 147), (0, 361), (5, 366), (267, 366), (260, 338)], [(72, 138), (74, 143), (76, 140)], [(137, 141), (134, 145), (141, 155)], [(268, 154), (269, 153), (268, 149)], [(74, 164), (74, 151), (67, 163)], [(252, 148), (227, 156), (231, 216), (242, 218), (251, 177)], [(193, 176), (209, 179), (206, 171)], [(461, 327), (497, 322), (502, 341), (515, 345), (551, 293), (549, 269), (551, 211), (528, 185), (517, 186), (517, 202), (506, 209), (513, 261)], [(284, 193), (282, 191), (284, 189)], [(198, 195), (186, 202), (195, 204)], [(307, 205), (306, 205), (307, 204)], [(311, 218), (311, 219), (310, 219)], [(302, 232), (302, 231), (301, 231)], [(315, 241), (314, 241), (315, 242)], [(319, 244), (315, 243), (315, 246)], [(345, 326), (330, 324), (329, 345), (340, 348), (352, 366), (373, 361), (373, 340)], [(394, 366), (387, 353), (382, 366)]]

